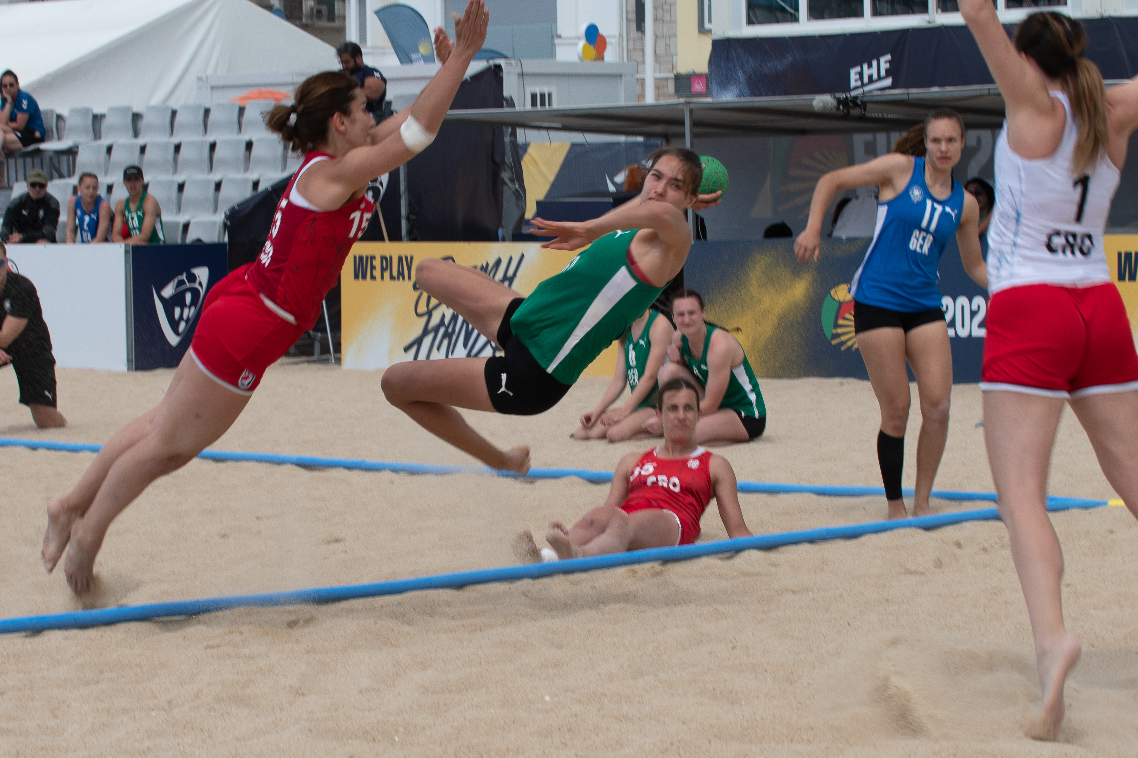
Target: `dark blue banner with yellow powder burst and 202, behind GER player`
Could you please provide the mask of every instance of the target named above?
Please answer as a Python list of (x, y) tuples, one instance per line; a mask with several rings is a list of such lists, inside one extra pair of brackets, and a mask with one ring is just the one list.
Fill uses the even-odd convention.
[[(864, 380), (849, 286), (868, 247), (868, 239), (826, 239), (819, 261), (799, 266), (789, 239), (696, 242), (684, 283), (704, 297), (708, 320), (742, 328), (735, 336), (758, 376)], [(953, 380), (979, 382), (988, 295), (964, 273), (955, 240), (941, 258), (940, 291)]]

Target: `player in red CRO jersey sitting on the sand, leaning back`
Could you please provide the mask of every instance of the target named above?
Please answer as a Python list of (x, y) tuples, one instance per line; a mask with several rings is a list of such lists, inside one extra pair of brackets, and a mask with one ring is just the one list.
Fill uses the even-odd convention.
[[(700, 535), (700, 517), (712, 498), (727, 536), (751, 535), (739, 507), (731, 464), (695, 444), (699, 390), (685, 378), (674, 378), (660, 388), (658, 406), (663, 442), (645, 453), (621, 458), (609, 499), (572, 528), (550, 522), (545, 540), (558, 559), (691, 544)], [(538, 551), (528, 530), (514, 538), (512, 547), (522, 563), (553, 560), (549, 552)]]

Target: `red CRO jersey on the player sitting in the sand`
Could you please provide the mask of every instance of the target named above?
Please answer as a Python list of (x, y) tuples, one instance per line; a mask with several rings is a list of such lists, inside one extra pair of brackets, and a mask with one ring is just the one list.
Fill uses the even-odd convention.
[(700, 517), (711, 502), (711, 452), (696, 448), (688, 458), (658, 458), (649, 450), (628, 477), (628, 498), (621, 510), (670, 510), (681, 520), (681, 543), (699, 536)]

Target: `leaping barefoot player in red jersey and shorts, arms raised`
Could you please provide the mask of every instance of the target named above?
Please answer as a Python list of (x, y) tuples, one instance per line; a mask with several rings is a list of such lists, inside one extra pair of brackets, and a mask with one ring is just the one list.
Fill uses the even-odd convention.
[(67, 495), (48, 503), (41, 558), (85, 592), (110, 522), (159, 476), (189, 463), (237, 420), (265, 368), (316, 320), (352, 244), (371, 218), (368, 182), (423, 150), (443, 123), (467, 67), (486, 40), (489, 14), (470, 0), (455, 19), (454, 50), (415, 102), (378, 126), (363, 90), (343, 72), (311, 76), (269, 128), (304, 151), (254, 263), (209, 291), (190, 350), (160, 403), (102, 447)]

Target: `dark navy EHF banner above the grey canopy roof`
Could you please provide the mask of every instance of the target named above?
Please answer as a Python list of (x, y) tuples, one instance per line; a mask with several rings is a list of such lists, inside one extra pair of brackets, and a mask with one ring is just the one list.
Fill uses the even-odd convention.
[[(1103, 78), (1138, 74), (1138, 18), (1080, 20)], [(708, 66), (715, 100), (993, 83), (966, 26), (712, 40)]]

